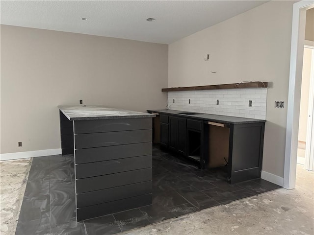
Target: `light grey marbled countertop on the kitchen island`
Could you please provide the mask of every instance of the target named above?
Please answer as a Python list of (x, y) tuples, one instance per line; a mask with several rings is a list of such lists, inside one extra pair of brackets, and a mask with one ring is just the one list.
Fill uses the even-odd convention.
[(71, 121), (155, 117), (153, 114), (131, 110), (114, 109), (103, 105), (59, 105), (58, 108)]

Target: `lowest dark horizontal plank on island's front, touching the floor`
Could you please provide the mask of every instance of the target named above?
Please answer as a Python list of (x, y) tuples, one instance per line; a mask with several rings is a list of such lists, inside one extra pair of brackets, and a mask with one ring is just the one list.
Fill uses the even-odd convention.
[(143, 207), (152, 204), (152, 194), (141, 195), (137, 197), (126, 198), (113, 202), (102, 203), (94, 206), (88, 206), (77, 209), (77, 219), (95, 218), (106, 214), (126, 211), (133, 208)]

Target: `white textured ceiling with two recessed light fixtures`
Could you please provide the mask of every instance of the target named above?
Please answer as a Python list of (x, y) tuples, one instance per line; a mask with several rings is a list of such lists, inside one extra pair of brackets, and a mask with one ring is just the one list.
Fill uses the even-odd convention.
[[(170, 44), (265, 2), (1, 0), (0, 7), (1, 24)], [(147, 22), (147, 18), (156, 21)]]

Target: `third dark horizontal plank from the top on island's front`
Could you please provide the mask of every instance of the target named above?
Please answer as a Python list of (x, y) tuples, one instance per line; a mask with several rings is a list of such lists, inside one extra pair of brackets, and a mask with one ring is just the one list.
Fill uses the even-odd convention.
[[(73, 145), (72, 145), (73, 147)], [(92, 163), (152, 154), (152, 143), (133, 143), (75, 150), (75, 163)]]

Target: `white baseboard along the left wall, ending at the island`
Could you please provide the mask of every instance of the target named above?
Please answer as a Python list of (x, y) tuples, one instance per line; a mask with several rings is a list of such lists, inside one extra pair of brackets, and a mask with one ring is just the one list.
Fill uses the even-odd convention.
[(17, 152), (17, 153), (1, 153), (0, 161), (22, 159), (22, 158), (43, 157), (43, 156), (51, 156), (51, 155), (58, 155), (58, 154), (61, 154), (61, 148), (28, 151), (28, 152)]

